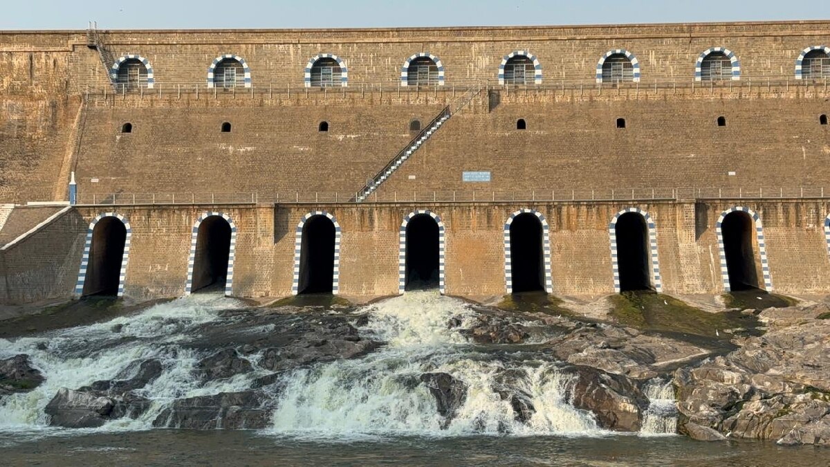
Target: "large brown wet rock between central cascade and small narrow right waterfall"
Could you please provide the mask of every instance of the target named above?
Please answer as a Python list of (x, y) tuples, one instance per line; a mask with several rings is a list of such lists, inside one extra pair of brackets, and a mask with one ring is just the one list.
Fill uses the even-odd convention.
[(630, 379), (589, 366), (575, 366), (564, 372), (574, 375), (567, 399), (574, 407), (591, 411), (600, 427), (616, 431), (640, 430), (648, 399)]

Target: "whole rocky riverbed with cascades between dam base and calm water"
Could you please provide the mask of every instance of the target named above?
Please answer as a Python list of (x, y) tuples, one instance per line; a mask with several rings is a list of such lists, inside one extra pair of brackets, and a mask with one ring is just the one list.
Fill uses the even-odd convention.
[[(830, 438), (823, 305), (683, 305), (665, 322), (650, 303), (674, 299), (657, 295), (612, 297), (603, 320), (432, 292), (368, 307), (190, 300), (0, 340), (0, 429)], [(676, 403), (658, 407), (655, 387)]]

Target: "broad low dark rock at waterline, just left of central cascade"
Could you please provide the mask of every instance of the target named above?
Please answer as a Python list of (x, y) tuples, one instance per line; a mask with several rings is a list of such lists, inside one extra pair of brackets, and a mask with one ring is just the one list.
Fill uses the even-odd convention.
[(161, 411), (153, 426), (191, 430), (259, 430), (270, 424), (273, 407), (259, 391), (222, 392), (179, 399)]

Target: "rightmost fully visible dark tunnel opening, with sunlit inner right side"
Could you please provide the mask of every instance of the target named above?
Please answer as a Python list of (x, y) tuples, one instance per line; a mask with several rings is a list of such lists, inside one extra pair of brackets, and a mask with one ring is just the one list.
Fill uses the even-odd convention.
[(726, 270), (729, 273), (730, 289), (734, 291), (760, 288), (752, 248), (754, 230), (752, 217), (741, 211), (726, 214), (720, 224)]

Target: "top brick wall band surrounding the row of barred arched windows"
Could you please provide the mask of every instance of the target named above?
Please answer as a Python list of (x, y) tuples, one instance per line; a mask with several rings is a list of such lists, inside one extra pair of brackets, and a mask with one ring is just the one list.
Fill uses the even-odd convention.
[[(417, 52), (440, 57), (447, 82), (495, 80), (502, 57), (530, 50), (549, 78), (593, 79), (599, 57), (611, 49), (634, 53), (642, 78), (694, 76), (710, 47), (727, 47), (745, 75), (794, 75), (804, 47), (828, 42), (828, 22), (745, 22), (583, 27), (453, 27), (398, 29), (103, 31), (112, 57), (139, 54), (159, 83), (203, 83), (215, 57), (232, 53), (251, 67), (255, 83), (301, 85), (310, 57), (333, 53), (350, 81), (398, 81), (403, 62)], [(4, 32), (2, 51), (60, 54), (76, 90), (104, 84), (105, 68), (85, 32)]]

